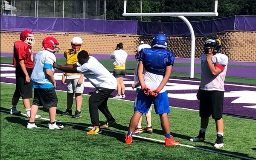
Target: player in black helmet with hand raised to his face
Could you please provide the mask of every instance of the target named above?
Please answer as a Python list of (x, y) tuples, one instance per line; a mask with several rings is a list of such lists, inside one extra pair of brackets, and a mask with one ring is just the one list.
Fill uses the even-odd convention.
[(228, 57), (220, 53), (221, 40), (216, 37), (208, 38), (204, 44), (204, 54), (201, 56), (201, 84), (197, 93), (201, 128), (199, 135), (191, 138), (193, 142), (204, 142), (209, 117), (216, 123), (217, 139), (215, 148), (224, 146), (222, 119), (224, 100), (224, 80), (227, 73)]

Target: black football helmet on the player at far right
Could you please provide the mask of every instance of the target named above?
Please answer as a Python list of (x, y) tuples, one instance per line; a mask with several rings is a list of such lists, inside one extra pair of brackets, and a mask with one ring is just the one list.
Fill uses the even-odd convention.
[(217, 37), (210, 37), (204, 43), (204, 53), (208, 53), (209, 48), (213, 47), (212, 53), (220, 52), (221, 50), (221, 40)]

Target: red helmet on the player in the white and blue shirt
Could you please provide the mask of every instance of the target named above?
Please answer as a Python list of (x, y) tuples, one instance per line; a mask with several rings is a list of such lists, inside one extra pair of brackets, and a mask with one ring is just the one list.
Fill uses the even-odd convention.
[(57, 45), (59, 45), (58, 40), (54, 37), (46, 37), (43, 40), (43, 48), (48, 50), (49, 52), (59, 52), (60, 48), (57, 47)]

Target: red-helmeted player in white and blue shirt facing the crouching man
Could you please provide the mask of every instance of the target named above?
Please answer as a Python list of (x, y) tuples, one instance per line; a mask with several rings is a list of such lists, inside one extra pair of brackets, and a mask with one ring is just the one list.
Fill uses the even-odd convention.
[(56, 61), (54, 53), (60, 49), (57, 47), (59, 43), (54, 37), (46, 37), (42, 44), (44, 50), (37, 52), (31, 74), (34, 100), (32, 102), (27, 128), (40, 127), (39, 125), (35, 125), (35, 116), (38, 107), (43, 106), (44, 108), (49, 108), (49, 129), (61, 129), (64, 128), (64, 125), (57, 124), (55, 119), (58, 97), (55, 92), (56, 81), (53, 77), (55, 70), (52, 68), (53, 63)]

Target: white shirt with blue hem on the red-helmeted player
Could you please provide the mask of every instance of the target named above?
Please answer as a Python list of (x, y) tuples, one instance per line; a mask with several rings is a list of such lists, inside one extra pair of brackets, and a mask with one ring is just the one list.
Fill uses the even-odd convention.
[(52, 70), (52, 73), (54, 74), (55, 70), (52, 65), (55, 61), (56, 57), (52, 52), (47, 50), (37, 52), (34, 68), (31, 74), (33, 88), (53, 87), (53, 83), (48, 79), (45, 69)]

